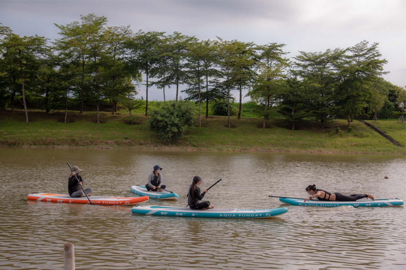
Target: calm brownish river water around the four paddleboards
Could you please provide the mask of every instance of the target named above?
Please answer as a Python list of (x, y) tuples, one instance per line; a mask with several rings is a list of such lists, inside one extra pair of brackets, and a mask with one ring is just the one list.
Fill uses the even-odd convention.
[[(186, 206), (194, 175), (221, 208), (277, 208), (268, 195), (304, 198), (315, 183), (331, 192), (406, 199), (404, 156), (206, 151), (0, 148), (0, 269), (61, 269), (75, 244), (77, 269), (405, 269), (405, 209), (306, 208), (268, 219), (132, 215), (131, 207), (27, 201), (66, 194), (71, 165), (93, 195), (137, 197), (154, 165)], [(300, 167), (296, 167), (300, 164)], [(388, 175), (389, 179), (384, 179)]]

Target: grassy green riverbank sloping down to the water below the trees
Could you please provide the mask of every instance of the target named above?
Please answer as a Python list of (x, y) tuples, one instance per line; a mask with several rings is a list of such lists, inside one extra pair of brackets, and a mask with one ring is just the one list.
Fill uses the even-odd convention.
[[(202, 118), (202, 127), (193, 126), (176, 143), (163, 143), (147, 128), (148, 118), (133, 115), (133, 125), (126, 124), (128, 113), (116, 115), (101, 112), (96, 123), (95, 112), (64, 113), (29, 111), (30, 123), (25, 123), (23, 111), (0, 111), (0, 145), (17, 147), (92, 147), (174, 150), (273, 151), (273, 152), (333, 152), (405, 154), (406, 125), (397, 121), (381, 121), (378, 128), (389, 132), (403, 146), (395, 146), (364, 124), (354, 121), (347, 129), (346, 120), (336, 120), (328, 128), (314, 124), (290, 130), (279, 120), (227, 117)], [(392, 134), (392, 135), (391, 135)], [(402, 137), (403, 134), (403, 137)]]

